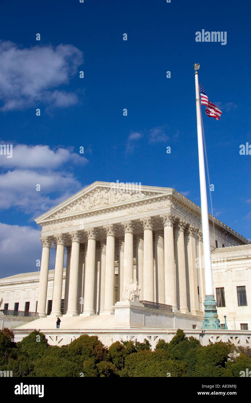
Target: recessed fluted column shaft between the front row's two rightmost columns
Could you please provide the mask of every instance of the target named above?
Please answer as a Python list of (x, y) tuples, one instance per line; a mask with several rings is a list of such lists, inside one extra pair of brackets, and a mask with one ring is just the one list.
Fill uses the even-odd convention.
[(156, 302), (165, 303), (164, 234), (155, 233)]

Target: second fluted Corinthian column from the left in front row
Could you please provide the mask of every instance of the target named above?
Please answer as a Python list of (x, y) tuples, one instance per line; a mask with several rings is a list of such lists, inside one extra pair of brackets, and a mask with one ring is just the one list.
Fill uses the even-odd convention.
[(54, 282), (52, 293), (52, 316), (62, 316), (61, 299), (63, 284), (63, 268), (64, 268), (64, 245), (66, 237), (64, 234), (54, 236), (54, 244), (56, 246), (56, 262), (54, 270)]

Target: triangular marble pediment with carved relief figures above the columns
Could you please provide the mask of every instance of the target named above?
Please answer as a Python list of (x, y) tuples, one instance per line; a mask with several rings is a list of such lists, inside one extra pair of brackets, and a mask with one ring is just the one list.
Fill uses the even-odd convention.
[(142, 201), (151, 196), (166, 193), (170, 188), (158, 188), (135, 184), (95, 182), (87, 186), (74, 196), (65, 200), (47, 213), (38, 217), (37, 223), (45, 220), (58, 219), (73, 216), (89, 210), (106, 210), (113, 206), (130, 204), (130, 202)]

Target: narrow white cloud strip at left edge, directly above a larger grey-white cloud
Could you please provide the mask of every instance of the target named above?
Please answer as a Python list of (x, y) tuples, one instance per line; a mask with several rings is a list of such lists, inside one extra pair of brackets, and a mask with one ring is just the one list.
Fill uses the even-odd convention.
[[(3, 144), (3, 142), (2, 142)], [(13, 146), (12, 158), (7, 155), (0, 156), (0, 166), (6, 168), (58, 168), (62, 164), (73, 162), (74, 164), (87, 164), (88, 160), (83, 154), (73, 152), (73, 147), (58, 148), (51, 150), (48, 145), (25, 145)]]

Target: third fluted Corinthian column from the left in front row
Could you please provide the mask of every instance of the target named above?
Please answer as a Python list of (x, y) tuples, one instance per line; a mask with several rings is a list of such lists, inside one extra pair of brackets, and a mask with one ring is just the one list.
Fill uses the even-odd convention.
[(71, 245), (68, 309), (66, 315), (76, 316), (78, 315), (77, 289), (78, 289), (78, 273), (79, 273), (79, 243), (81, 239), (81, 232), (73, 231), (69, 235), (72, 239), (72, 245)]

